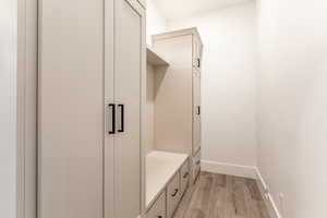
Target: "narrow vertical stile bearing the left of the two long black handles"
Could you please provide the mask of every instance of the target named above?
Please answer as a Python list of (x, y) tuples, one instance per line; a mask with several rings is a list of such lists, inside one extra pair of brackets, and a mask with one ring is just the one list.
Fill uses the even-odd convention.
[[(105, 1), (104, 217), (114, 218), (114, 1)], [(111, 107), (109, 107), (111, 106)]]

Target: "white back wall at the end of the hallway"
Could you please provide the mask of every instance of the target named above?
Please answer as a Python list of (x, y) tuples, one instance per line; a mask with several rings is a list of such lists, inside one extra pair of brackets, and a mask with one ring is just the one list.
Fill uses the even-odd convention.
[[(203, 160), (222, 162), (214, 167), (218, 171), (225, 164), (256, 166), (255, 3), (168, 23), (169, 29), (193, 26), (204, 43)], [(233, 167), (226, 170), (232, 173)]]

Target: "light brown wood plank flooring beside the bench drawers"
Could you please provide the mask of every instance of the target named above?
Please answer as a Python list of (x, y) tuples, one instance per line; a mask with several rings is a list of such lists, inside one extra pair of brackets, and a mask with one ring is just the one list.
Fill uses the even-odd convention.
[(255, 180), (201, 172), (173, 218), (269, 218)]

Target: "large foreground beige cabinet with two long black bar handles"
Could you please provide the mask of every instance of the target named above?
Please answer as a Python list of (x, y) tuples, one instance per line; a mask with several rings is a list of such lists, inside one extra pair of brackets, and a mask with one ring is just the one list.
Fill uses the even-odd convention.
[(41, 0), (40, 218), (141, 214), (145, 49), (137, 0)]

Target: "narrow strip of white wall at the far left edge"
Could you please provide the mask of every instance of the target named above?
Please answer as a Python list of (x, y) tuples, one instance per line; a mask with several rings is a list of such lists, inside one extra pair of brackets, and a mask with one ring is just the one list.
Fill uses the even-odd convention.
[(0, 217), (16, 217), (16, 1), (0, 1)]

